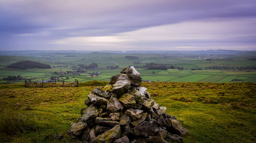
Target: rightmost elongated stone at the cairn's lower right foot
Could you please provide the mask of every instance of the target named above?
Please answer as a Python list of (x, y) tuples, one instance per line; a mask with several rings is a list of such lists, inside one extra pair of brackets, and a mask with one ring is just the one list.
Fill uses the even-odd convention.
[(165, 122), (167, 125), (169, 125), (167, 128), (170, 131), (173, 131), (175, 133), (178, 134), (187, 134), (189, 133), (188, 130), (186, 130), (185, 128), (183, 128), (181, 126), (181, 124), (179, 123), (179, 121), (171, 119), (171, 118), (165, 118)]

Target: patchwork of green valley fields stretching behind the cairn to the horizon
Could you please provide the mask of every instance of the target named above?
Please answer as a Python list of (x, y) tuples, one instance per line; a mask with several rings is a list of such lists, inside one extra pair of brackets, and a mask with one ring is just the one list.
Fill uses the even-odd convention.
[[(116, 54), (116, 53), (42, 53), (42, 54), (24, 54), (23, 56), (0, 56), (0, 83), (23, 83), (21, 81), (6, 81), (4, 77), (9, 75), (20, 75), (23, 78), (31, 78), (32, 81), (40, 81), (43, 78), (49, 79), (51, 76), (59, 76), (60, 78), (72, 77), (67, 81), (77, 80), (89, 81), (109, 81), (110, 77), (119, 74), (120, 71), (129, 66), (135, 66), (141, 73), (141, 77), (145, 81), (170, 81), (170, 82), (256, 82), (255, 70), (219, 70), (205, 69), (214, 66), (226, 67), (256, 67), (256, 63), (246, 60), (244, 56), (233, 55), (168, 55), (165, 54)], [(126, 55), (138, 56), (139, 59), (129, 60)], [(181, 56), (178, 58), (177, 56)], [(204, 58), (202, 58), (204, 57)], [(216, 58), (207, 61), (206, 59)], [(14, 62), (30, 60), (49, 64), (52, 69), (10, 69), (8, 65)], [(184, 70), (167, 69), (167, 70), (146, 70), (143, 66), (146, 63), (165, 64), (166, 66), (183, 67)], [(91, 77), (90, 72), (80, 73), (80, 75), (62, 74), (54, 75), (54, 72), (73, 71), (72, 67), (78, 67), (79, 64), (89, 65), (97, 63), (98, 67), (119, 66), (118, 69), (100, 69), (101, 72), (96, 77)], [(116, 65), (117, 64), (117, 65)], [(202, 70), (191, 70), (201, 68)], [(75, 77), (73, 79), (73, 77)], [(61, 79), (62, 80), (62, 79)]]

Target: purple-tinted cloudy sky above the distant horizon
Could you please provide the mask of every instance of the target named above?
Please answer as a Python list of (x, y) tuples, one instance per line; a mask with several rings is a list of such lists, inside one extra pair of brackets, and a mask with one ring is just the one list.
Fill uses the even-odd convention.
[(0, 0), (0, 50), (256, 50), (255, 0)]

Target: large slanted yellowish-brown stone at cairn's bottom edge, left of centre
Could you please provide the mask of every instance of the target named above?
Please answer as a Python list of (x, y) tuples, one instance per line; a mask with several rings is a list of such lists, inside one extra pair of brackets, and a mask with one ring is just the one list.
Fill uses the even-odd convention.
[(93, 143), (110, 143), (121, 136), (120, 125), (114, 126), (112, 129), (98, 135), (93, 139)]

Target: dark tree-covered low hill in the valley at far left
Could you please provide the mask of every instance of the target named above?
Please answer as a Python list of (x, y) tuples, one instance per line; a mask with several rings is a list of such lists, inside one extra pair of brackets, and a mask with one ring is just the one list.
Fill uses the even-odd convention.
[(47, 64), (33, 62), (33, 61), (20, 61), (20, 62), (11, 64), (10, 66), (8, 66), (8, 68), (23, 69), (23, 70), (31, 69), (31, 68), (51, 69), (51, 66)]

